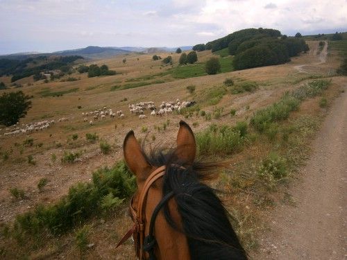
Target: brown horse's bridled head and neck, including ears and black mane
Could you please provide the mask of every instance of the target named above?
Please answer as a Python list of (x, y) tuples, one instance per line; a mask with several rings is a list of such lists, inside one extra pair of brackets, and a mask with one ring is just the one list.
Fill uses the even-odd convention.
[(142, 259), (247, 259), (228, 212), (201, 182), (216, 164), (196, 164), (192, 129), (180, 121), (177, 147), (148, 156), (134, 132), (124, 139), (124, 158), (136, 176), (130, 202), (137, 257)]

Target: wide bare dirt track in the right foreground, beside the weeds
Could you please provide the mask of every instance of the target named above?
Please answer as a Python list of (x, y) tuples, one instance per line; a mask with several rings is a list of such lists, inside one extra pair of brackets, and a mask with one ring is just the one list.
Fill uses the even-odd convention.
[(347, 87), (330, 107), (312, 156), (290, 189), (294, 205), (271, 214), (255, 259), (347, 258)]

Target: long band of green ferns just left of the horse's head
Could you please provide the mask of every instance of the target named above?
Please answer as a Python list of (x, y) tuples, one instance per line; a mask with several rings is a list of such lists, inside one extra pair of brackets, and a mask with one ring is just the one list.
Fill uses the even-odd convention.
[(102, 198), (109, 193), (124, 199), (135, 192), (135, 176), (124, 162), (112, 168), (101, 168), (93, 173), (92, 183), (78, 183), (70, 187), (67, 196), (54, 205), (38, 205), (35, 210), (19, 214), (15, 228), (19, 234), (35, 236), (49, 231), (62, 234), (81, 225), (101, 211)]

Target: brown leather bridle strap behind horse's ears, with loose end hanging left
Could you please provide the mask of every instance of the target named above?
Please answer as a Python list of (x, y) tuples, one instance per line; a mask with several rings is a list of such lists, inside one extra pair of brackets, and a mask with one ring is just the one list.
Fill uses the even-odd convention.
[(153, 173), (149, 175), (146, 182), (144, 182), (144, 187), (139, 194), (139, 202), (137, 204), (137, 211), (133, 208), (133, 198), (130, 200), (130, 213), (132, 215), (132, 219), (134, 221), (133, 227), (126, 232), (126, 234), (121, 238), (121, 240), (117, 243), (116, 248), (119, 247), (119, 245), (122, 245), (126, 240), (130, 238), (130, 236), (136, 236), (137, 239), (134, 239), (135, 242), (135, 248), (136, 248), (136, 254), (137, 257), (139, 257), (139, 260), (144, 259), (144, 237), (145, 237), (145, 229), (144, 229), (144, 209), (146, 207), (146, 198), (147, 193), (149, 192), (149, 189), (153, 185), (153, 183), (158, 180), (160, 177), (164, 176), (165, 173), (165, 166), (160, 166), (159, 168), (155, 169)]

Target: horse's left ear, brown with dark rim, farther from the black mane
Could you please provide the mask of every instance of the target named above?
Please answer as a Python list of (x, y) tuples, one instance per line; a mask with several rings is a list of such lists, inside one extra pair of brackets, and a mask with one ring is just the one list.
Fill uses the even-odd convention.
[(139, 146), (135, 138), (133, 130), (128, 132), (128, 135), (124, 139), (123, 153), (126, 164), (136, 176), (144, 173), (150, 167), (142, 153), (141, 146)]

